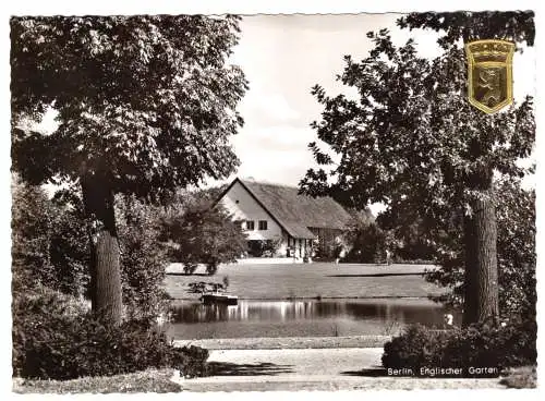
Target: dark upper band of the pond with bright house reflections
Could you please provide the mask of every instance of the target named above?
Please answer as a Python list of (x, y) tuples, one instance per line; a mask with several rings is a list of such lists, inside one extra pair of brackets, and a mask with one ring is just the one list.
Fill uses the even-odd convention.
[(433, 326), (443, 323), (444, 309), (428, 301), (239, 301), (238, 305), (182, 302), (173, 308), (174, 323), (291, 321), (323, 318), (397, 320)]

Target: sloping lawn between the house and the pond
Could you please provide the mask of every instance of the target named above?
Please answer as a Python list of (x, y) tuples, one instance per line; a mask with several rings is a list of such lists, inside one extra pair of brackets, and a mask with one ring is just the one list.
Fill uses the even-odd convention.
[[(178, 269), (177, 269), (178, 267)], [(286, 264), (223, 265), (216, 276), (199, 267), (194, 275), (169, 274), (166, 288), (174, 299), (197, 299), (190, 282), (221, 282), (229, 277), (229, 292), (247, 300), (311, 297), (391, 297), (438, 295), (444, 289), (422, 277), (431, 265)], [(172, 266), (170, 271), (182, 271)]]

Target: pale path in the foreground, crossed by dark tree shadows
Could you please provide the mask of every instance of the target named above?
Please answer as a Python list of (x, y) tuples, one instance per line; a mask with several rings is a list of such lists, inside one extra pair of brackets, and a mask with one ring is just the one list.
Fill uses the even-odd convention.
[(185, 391), (505, 388), (499, 379), (373, 377), (382, 348), (213, 350), (215, 375), (175, 379)]

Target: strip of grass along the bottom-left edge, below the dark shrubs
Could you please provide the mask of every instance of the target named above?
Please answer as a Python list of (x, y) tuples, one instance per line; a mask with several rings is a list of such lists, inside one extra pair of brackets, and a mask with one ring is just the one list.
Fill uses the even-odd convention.
[(19, 393), (110, 393), (179, 392), (180, 385), (170, 381), (173, 369), (148, 369), (126, 375), (82, 377), (73, 380), (13, 379)]

